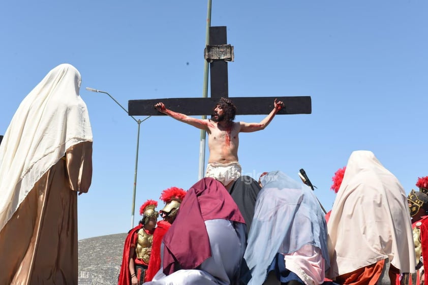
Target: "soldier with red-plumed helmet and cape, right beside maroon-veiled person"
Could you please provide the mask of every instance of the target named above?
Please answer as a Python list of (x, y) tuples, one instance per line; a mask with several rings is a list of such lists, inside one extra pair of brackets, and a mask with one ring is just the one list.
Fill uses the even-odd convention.
[(160, 199), (164, 201), (165, 207), (159, 211), (163, 220), (158, 221), (155, 234), (153, 235), (153, 244), (151, 248), (151, 257), (146, 273), (146, 281), (151, 281), (156, 273), (161, 269), (161, 244), (162, 239), (171, 224), (177, 216), (181, 202), (186, 196), (186, 191), (177, 187), (170, 187), (164, 190)]

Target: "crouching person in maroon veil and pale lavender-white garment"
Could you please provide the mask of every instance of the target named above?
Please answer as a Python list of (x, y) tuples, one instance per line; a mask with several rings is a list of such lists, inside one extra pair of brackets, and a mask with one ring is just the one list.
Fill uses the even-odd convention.
[(145, 285), (236, 284), (245, 250), (245, 224), (222, 183), (195, 183), (163, 238), (162, 268)]

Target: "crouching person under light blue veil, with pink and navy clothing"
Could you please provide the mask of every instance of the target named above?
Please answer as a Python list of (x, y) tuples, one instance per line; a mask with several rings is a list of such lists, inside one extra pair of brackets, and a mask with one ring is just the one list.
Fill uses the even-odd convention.
[(322, 284), (330, 266), (327, 225), (313, 191), (281, 171), (260, 182), (241, 282)]

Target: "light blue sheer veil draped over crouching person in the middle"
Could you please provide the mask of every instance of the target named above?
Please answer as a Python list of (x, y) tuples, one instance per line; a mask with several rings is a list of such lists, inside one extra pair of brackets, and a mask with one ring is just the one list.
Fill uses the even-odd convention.
[(261, 177), (261, 183), (244, 254), (250, 272), (242, 281), (262, 284), (278, 252), (289, 254), (305, 244), (321, 249), (327, 270), (330, 262), (325, 214), (311, 188), (281, 171), (269, 172)]

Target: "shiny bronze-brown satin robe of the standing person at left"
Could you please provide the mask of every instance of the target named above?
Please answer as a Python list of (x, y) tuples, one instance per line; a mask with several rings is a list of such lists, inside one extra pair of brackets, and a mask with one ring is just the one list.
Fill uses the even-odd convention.
[(77, 192), (88, 191), (92, 142), (70, 147), (0, 232), (0, 285), (77, 285)]

